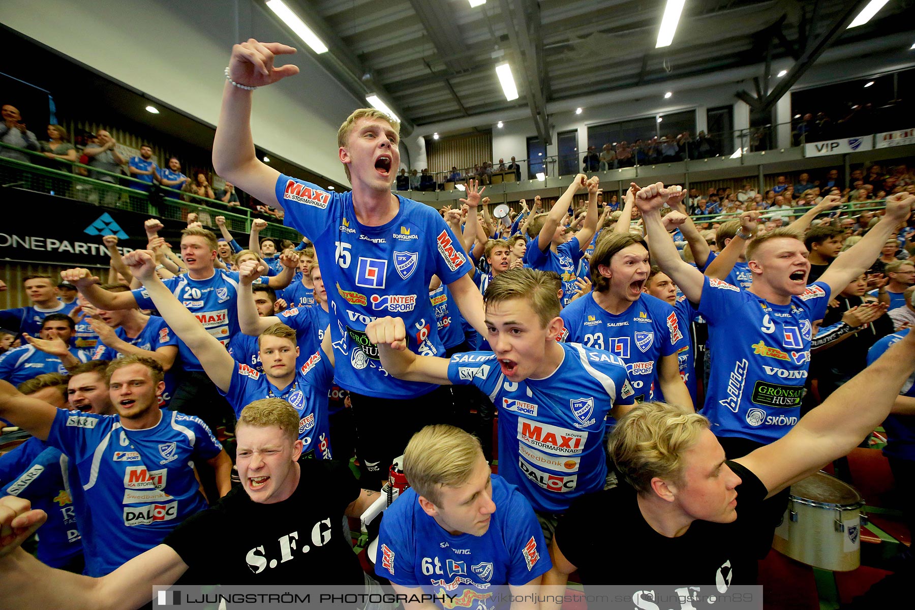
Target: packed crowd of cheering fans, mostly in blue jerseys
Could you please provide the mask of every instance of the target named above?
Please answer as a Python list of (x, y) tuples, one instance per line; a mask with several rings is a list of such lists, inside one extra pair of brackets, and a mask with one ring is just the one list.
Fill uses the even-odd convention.
[[(232, 49), (213, 165), (303, 241), (258, 220), (242, 249), (192, 216), (173, 251), (149, 219), (145, 250), (103, 237), (106, 282), (29, 276), (31, 305), (0, 312), (25, 342), (0, 357), (0, 418), (30, 434), (0, 455), (8, 603), (135, 608), (185, 578), (495, 608), (497, 587), (561, 594), (577, 572), (700, 604), (756, 583), (791, 483), (881, 423), (915, 483), (907, 170), (878, 170), (896, 179), (867, 210), (802, 174), (810, 209), (778, 220), (749, 185), (716, 191), (737, 202), (718, 219), (711, 194), (633, 183), (605, 203), (583, 173), (493, 219), (475, 177), (458, 209), (393, 195), (399, 124), (361, 109), (336, 193), (255, 155), (253, 89), (293, 77), (274, 65), (291, 52)], [(401, 466), (363, 573), (345, 518)], [(587, 531), (606, 514), (626, 562)], [(36, 558), (19, 547), (39, 527)]]

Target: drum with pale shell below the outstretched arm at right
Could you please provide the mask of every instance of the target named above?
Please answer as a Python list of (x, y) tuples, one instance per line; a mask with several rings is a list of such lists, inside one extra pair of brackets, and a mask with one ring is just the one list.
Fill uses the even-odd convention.
[(822, 471), (814, 473), (791, 486), (772, 546), (815, 568), (855, 570), (861, 565), (862, 507), (855, 487)]

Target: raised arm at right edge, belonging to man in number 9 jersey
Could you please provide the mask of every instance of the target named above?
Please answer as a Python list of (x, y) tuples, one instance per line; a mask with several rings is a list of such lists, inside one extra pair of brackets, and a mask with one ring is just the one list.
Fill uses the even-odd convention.
[(887, 199), (883, 218), (867, 231), (854, 246), (839, 254), (820, 277), (820, 282), (829, 284), (832, 294), (839, 294), (858, 275), (865, 273), (877, 257), (890, 234), (909, 219), (915, 195), (897, 193)]

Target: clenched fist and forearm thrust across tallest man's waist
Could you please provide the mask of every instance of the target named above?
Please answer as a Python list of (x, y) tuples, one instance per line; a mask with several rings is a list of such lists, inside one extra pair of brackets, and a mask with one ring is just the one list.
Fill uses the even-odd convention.
[(417, 356), (407, 349), (403, 318), (386, 316), (372, 320), (365, 327), (365, 334), (378, 346), (382, 367), (397, 379), (451, 385), (447, 358)]

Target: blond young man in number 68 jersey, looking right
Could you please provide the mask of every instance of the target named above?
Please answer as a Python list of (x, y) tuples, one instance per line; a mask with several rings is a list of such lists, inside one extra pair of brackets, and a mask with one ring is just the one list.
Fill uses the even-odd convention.
[(536, 594), (551, 566), (544, 534), (518, 489), (492, 474), (479, 440), (426, 426), (406, 445), (404, 475), (410, 488), (384, 513), (375, 562), (394, 591), (447, 592), (478, 610), (499, 606), (496, 593)]

